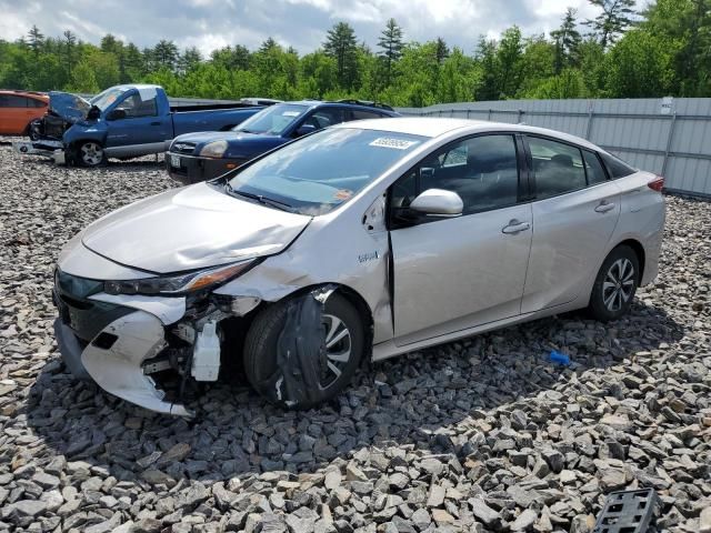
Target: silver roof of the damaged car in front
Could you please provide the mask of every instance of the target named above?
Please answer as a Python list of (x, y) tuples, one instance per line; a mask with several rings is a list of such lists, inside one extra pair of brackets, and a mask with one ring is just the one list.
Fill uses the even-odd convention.
[(343, 122), (336, 128), (360, 128), (364, 130), (389, 131), (392, 133), (409, 133), (437, 138), (454, 130), (468, 130), (465, 133), (478, 133), (487, 131), (520, 131), (521, 133), (538, 133), (541, 135), (555, 137), (562, 141), (572, 142), (581, 147), (600, 150), (590, 141), (580, 137), (563, 133), (561, 131), (534, 128), (524, 124), (510, 124), (504, 122), (488, 122), (485, 120), (447, 119), (434, 117), (399, 117), (388, 119), (359, 120), (356, 122)]

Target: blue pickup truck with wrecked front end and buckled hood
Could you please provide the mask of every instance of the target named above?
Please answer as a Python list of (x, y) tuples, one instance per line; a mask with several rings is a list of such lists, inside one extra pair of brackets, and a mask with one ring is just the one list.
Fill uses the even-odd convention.
[(251, 103), (171, 107), (161, 87), (148, 84), (111, 87), (88, 101), (50, 92), (48, 113), (30, 124), (30, 142), (14, 148), (58, 163), (97, 167), (107, 158), (163, 152), (183, 133), (229, 130), (261, 109)]

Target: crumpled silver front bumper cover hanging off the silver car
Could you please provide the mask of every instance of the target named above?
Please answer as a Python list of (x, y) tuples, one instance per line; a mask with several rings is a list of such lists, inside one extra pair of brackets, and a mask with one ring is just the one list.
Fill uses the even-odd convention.
[(192, 416), (184, 405), (166, 401), (164, 392), (143, 373), (142, 363), (167, 346), (164, 324), (156, 314), (136, 309), (104, 325), (90, 342), (78, 338), (59, 318), (54, 334), (62, 359), (77, 379), (94, 381), (104, 391), (151, 411)]

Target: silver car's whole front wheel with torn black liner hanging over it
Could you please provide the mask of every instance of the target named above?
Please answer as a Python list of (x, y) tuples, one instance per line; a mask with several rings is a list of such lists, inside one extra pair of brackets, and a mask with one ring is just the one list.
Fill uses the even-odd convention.
[[(247, 333), (247, 378), (272, 403), (310, 408), (330, 400), (360, 364), (364, 332), (358, 311), (338, 293), (322, 308), (313, 302), (309, 294), (273, 304), (254, 318)], [(320, 321), (316, 328), (304, 326), (313, 319)], [(296, 342), (290, 344), (287, 336)]]

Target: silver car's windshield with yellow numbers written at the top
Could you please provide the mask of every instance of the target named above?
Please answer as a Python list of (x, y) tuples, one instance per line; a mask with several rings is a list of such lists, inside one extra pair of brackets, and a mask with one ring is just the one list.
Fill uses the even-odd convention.
[(297, 213), (336, 209), (424, 142), (427, 138), (356, 128), (304, 137), (236, 174), (236, 193), (263, 197)]

